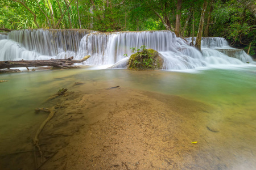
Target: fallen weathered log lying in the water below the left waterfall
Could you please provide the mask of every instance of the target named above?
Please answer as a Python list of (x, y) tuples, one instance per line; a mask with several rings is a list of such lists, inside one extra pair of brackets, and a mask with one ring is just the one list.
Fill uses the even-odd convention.
[(73, 60), (74, 57), (68, 59), (47, 59), (47, 60), (20, 60), (20, 61), (0, 61), (0, 69), (10, 69), (13, 67), (38, 67), (38, 66), (53, 66), (61, 69), (73, 68), (73, 63), (81, 63), (90, 58), (85, 56), (79, 60)]

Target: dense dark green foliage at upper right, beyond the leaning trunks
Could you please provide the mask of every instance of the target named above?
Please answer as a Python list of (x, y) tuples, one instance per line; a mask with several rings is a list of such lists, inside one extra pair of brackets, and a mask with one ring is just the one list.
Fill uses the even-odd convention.
[(250, 55), (255, 55), (256, 19), (249, 10), (235, 0), (214, 3), (212, 36), (225, 37), (230, 45), (249, 48)]

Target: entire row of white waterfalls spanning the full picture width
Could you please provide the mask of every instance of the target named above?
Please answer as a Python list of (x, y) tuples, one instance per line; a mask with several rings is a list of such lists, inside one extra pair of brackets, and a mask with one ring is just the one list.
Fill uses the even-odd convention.
[[(201, 53), (188, 45), (191, 38), (186, 42), (170, 31), (89, 32), (93, 31), (74, 29), (12, 31), (7, 37), (0, 35), (0, 61), (71, 56), (81, 59), (90, 55), (91, 57), (83, 64), (124, 68), (129, 58), (123, 55), (130, 56), (130, 48), (140, 48), (142, 45), (147, 49), (155, 49), (162, 55), (163, 69), (166, 70), (195, 69), (212, 65), (243, 65), (247, 61), (253, 61), (243, 50), (231, 48), (228, 42), (220, 37), (204, 37), (201, 41)], [(236, 50), (236, 52), (232, 52), (232, 57), (229, 57), (230, 52), (226, 50)]]

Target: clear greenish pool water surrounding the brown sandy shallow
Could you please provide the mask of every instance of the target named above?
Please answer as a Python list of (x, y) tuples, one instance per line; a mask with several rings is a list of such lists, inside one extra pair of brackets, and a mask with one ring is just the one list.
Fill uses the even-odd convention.
[(205, 141), (207, 146), (199, 148), (197, 154), (209, 152), (204, 159), (218, 164), (214, 159), (217, 156), (220, 162), (232, 163), (233, 169), (256, 167), (256, 67), (253, 65), (192, 73), (87, 67), (2, 74), (0, 80), (9, 80), (0, 83), (0, 155), (25, 150), (23, 143), (31, 143), (28, 138), (34, 137), (47, 117), (44, 113), (35, 114), (35, 108), (42, 107), (60, 88), (76, 91), (73, 84), (85, 82), (92, 90), (120, 86), (213, 105), (213, 111), (198, 115), (194, 123), (214, 124), (220, 132), (199, 129), (200, 138), (196, 140)]

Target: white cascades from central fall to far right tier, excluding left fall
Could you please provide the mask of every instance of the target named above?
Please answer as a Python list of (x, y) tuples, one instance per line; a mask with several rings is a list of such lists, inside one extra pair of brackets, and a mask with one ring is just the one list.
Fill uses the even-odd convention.
[[(191, 39), (188, 38), (188, 41)], [(202, 53), (188, 45), (183, 39), (177, 38), (170, 31), (143, 31), (118, 33), (90, 33), (80, 43), (77, 59), (86, 54), (92, 57), (85, 63), (89, 65), (113, 65), (112, 68), (125, 67), (131, 55), (130, 48), (142, 45), (157, 50), (164, 58), (163, 69), (182, 70), (195, 67), (242, 64), (253, 61), (243, 52), (242, 55), (230, 58), (216, 49), (233, 49), (228, 42), (220, 37), (204, 37), (202, 39)], [(117, 63), (118, 62), (118, 63)]]

